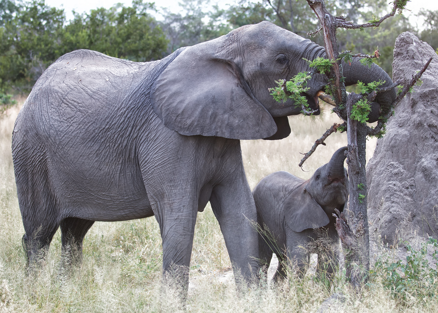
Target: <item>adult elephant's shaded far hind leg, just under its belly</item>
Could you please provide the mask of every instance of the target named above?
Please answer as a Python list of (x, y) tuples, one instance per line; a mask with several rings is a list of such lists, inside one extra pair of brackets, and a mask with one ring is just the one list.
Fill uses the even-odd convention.
[(94, 221), (78, 217), (66, 217), (61, 222), (61, 257), (64, 266), (82, 261), (82, 241)]

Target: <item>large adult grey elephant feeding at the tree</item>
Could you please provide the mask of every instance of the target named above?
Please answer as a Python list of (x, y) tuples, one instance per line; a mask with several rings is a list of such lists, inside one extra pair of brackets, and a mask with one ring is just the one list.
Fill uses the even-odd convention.
[[(59, 226), (63, 251), (67, 242), (81, 251), (94, 221), (154, 215), (163, 271), (182, 268), (187, 288), (196, 216), (210, 201), (233, 269), (249, 280), (258, 272), (258, 238), (239, 139), (289, 135), (287, 116), (301, 108), (275, 102), (268, 88), (308, 71), (302, 58), (318, 56), (321, 46), (265, 21), (158, 61), (89, 50), (60, 57), (36, 82), (14, 127), (29, 261)], [(348, 73), (350, 83), (391, 83), (377, 65), (357, 60)], [(325, 84), (322, 75), (307, 84), (314, 110)], [(387, 105), (394, 97), (391, 91), (378, 99)]]

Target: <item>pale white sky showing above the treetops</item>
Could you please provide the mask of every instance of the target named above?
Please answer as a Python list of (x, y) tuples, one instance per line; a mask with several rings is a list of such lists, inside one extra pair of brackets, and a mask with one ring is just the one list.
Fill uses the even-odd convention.
[[(144, 0), (148, 1), (148, 0)], [(150, 2), (154, 2), (154, 0), (149, 0)], [(65, 1), (65, 0), (46, 0), (46, 4), (51, 7), (58, 7), (63, 8), (65, 10), (65, 13), (67, 15), (67, 20), (73, 18), (73, 14), (71, 14), (72, 10), (75, 10), (79, 13), (82, 12), (89, 12), (91, 9), (95, 9), (97, 7), (112, 7), (117, 2), (124, 3), (124, 5), (131, 5), (131, 1), (124, 1), (124, 0), (74, 0), (74, 1)], [(155, 5), (157, 7), (169, 7), (171, 11), (178, 12), (178, 2), (180, 0), (155, 0)], [(254, 0), (254, 2), (257, 2), (257, 0)], [(388, 0), (390, 2), (390, 0)], [(219, 7), (226, 7), (227, 4), (233, 4), (233, 0), (211, 0), (212, 4), (219, 4)], [(418, 13), (418, 11), (421, 8), (425, 8), (428, 10), (438, 10), (438, 1), (437, 0), (411, 0), (406, 5), (406, 8), (411, 10), (410, 12), (405, 12), (404, 14), (406, 16), (410, 16), (410, 21), (412, 25), (418, 25), (420, 28), (422, 28), (423, 21), (418, 21), (418, 18), (414, 16), (414, 14)]]

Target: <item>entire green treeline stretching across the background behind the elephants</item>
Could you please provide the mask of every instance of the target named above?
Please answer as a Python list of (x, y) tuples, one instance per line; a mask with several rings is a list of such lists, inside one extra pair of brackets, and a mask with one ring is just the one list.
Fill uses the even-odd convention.
[[(327, 0), (326, 7), (354, 23), (364, 23), (389, 10), (387, 0)], [(66, 21), (64, 10), (49, 7), (44, 0), (0, 0), (0, 91), (26, 92), (53, 61), (76, 49), (91, 49), (134, 61), (157, 60), (181, 46), (192, 46), (225, 35), (232, 29), (261, 21), (323, 45), (320, 27), (306, 1), (234, 0), (227, 9), (209, 6), (210, 0), (182, 0), (180, 13), (134, 0), (131, 7), (117, 4), (109, 9), (74, 13)], [(161, 15), (159, 20), (155, 19)], [(373, 59), (392, 75), (392, 51), (396, 37), (405, 31), (438, 49), (438, 11), (423, 10), (421, 32), (397, 14), (380, 27), (339, 29), (339, 50), (374, 53)]]

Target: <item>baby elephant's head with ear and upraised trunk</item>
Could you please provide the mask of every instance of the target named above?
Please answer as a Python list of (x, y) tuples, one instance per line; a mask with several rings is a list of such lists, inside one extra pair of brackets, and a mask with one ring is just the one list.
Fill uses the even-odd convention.
[(344, 167), (346, 150), (347, 147), (336, 150), (329, 163), (319, 167), (286, 199), (285, 220), (293, 231), (325, 226), (335, 208), (343, 211), (349, 187)]

